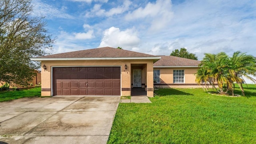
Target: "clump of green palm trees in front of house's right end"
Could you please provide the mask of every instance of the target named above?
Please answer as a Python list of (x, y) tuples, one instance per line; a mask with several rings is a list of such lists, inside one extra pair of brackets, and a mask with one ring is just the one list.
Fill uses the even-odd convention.
[[(212, 86), (214, 86), (214, 82), (217, 82), (219, 90), (215, 86), (214, 88), (221, 94), (227, 94), (230, 91), (234, 95), (233, 84), (236, 82), (242, 91), (242, 96), (244, 96), (243, 77), (256, 84), (256, 80), (250, 76), (256, 76), (256, 58), (240, 51), (234, 52), (230, 58), (224, 52), (205, 54), (199, 66), (196, 82), (200, 84), (204, 80)], [(227, 86), (226, 90), (223, 89), (224, 84)]]

